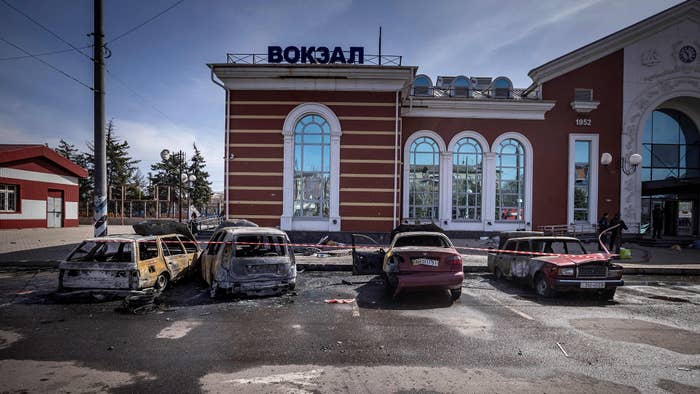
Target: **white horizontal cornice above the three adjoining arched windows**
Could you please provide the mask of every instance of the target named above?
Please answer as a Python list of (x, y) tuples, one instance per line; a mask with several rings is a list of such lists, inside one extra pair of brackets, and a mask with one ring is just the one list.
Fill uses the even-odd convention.
[(544, 120), (555, 101), (413, 99), (404, 117)]

